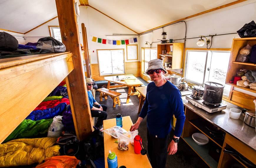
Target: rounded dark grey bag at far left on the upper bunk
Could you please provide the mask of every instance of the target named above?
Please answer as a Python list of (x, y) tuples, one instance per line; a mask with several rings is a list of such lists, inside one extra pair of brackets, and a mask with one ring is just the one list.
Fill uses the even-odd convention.
[(18, 40), (14, 36), (6, 32), (0, 32), (0, 51), (15, 51), (18, 46)]

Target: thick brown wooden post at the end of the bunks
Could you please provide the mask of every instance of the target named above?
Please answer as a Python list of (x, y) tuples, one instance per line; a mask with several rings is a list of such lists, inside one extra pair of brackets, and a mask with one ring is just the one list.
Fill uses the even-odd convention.
[[(72, 116), (77, 138), (85, 139), (93, 130), (91, 111), (85, 84), (84, 67), (82, 63), (79, 31), (74, 9), (74, 0), (55, 0), (62, 42), (66, 51), (72, 52), (74, 70), (68, 75), (70, 88), (70, 104), (73, 106)], [(86, 48), (87, 46), (84, 46)], [(84, 53), (84, 54), (87, 54)]]

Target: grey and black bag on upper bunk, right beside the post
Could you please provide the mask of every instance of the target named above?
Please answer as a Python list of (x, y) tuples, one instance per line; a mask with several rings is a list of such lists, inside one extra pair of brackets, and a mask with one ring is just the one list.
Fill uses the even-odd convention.
[(66, 46), (52, 37), (43, 37), (37, 41), (36, 48), (40, 53), (65, 52)]

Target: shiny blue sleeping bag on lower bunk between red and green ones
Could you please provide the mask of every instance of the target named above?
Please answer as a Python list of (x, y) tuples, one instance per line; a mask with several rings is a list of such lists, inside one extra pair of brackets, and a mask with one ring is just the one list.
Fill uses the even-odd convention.
[(60, 115), (61, 112), (63, 112), (63, 110), (66, 109), (66, 107), (66, 103), (61, 103), (55, 106), (54, 108), (49, 108), (45, 110), (35, 110), (31, 112), (26, 119), (31, 119), (34, 121), (40, 119), (52, 119), (53, 117)]

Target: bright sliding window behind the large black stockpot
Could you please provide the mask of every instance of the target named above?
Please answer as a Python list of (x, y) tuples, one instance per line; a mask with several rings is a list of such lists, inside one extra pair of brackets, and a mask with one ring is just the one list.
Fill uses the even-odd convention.
[(225, 84), (230, 51), (187, 50), (185, 78), (187, 81), (204, 85), (206, 81), (224, 84), (223, 95), (228, 96), (230, 85)]

